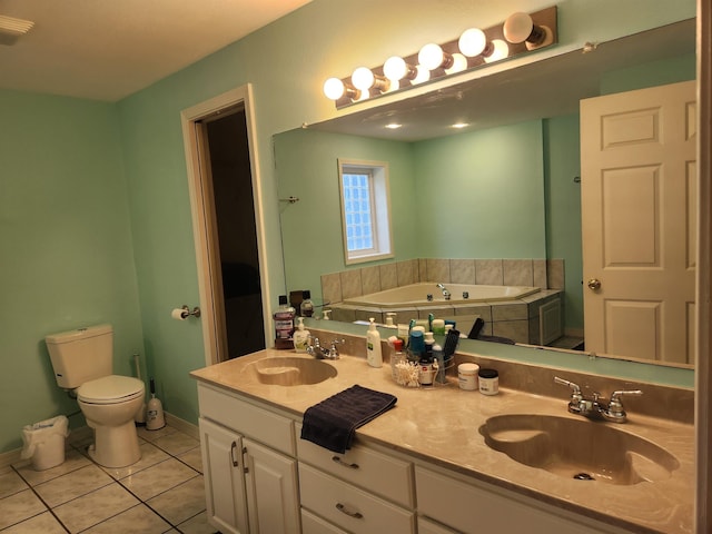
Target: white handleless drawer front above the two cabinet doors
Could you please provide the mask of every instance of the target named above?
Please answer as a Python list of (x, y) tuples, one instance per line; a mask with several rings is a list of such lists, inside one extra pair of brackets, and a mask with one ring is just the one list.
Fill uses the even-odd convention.
[(295, 456), (294, 422), (239, 399), (228, 393), (198, 384), (200, 415), (253, 437), (271, 448)]

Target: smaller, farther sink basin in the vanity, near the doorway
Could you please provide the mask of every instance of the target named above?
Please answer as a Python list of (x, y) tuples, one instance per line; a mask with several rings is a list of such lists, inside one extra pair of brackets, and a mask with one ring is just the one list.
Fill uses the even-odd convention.
[(277, 386), (306, 386), (336, 376), (336, 368), (320, 359), (294, 356), (259, 359), (245, 372), (260, 384)]

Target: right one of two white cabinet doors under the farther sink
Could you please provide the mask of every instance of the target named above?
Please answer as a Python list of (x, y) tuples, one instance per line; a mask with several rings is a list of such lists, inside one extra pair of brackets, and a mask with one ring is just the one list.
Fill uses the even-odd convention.
[(297, 463), (244, 438), (250, 534), (300, 532)]

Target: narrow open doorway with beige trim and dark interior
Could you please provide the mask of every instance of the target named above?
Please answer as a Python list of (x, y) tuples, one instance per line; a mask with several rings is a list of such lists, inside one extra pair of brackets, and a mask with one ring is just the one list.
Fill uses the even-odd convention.
[(264, 218), (250, 87), (181, 112), (206, 364), (265, 348)]

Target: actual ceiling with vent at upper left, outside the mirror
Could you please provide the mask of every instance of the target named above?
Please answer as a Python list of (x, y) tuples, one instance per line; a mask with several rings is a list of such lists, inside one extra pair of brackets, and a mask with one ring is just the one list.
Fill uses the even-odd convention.
[(310, 0), (0, 0), (0, 88), (116, 101)]

